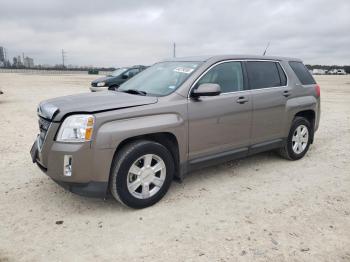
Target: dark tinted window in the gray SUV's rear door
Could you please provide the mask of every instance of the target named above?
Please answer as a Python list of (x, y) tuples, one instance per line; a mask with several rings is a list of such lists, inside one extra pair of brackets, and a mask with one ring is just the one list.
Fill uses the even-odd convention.
[(247, 62), (247, 70), (251, 89), (282, 86), (275, 62)]

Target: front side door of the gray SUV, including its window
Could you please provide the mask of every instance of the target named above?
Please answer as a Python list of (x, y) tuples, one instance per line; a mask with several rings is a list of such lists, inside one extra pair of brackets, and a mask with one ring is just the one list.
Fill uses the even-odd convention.
[(213, 156), (250, 143), (252, 101), (239, 61), (221, 62), (195, 83), (216, 83), (221, 94), (189, 100), (189, 157)]

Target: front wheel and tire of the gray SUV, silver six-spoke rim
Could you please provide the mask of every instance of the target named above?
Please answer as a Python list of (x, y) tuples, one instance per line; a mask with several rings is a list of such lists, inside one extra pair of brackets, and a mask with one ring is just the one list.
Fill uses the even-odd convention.
[(138, 140), (115, 155), (110, 191), (117, 201), (128, 207), (149, 207), (166, 194), (174, 172), (174, 159), (168, 149), (153, 141)]

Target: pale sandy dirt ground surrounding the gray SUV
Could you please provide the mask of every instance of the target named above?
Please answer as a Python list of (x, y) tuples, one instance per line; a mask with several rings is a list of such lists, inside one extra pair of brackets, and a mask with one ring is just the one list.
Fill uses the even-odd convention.
[(317, 77), (304, 159), (207, 168), (144, 210), (66, 192), (31, 163), (38, 102), (93, 78), (0, 74), (0, 261), (350, 261), (350, 76)]

